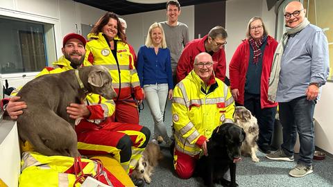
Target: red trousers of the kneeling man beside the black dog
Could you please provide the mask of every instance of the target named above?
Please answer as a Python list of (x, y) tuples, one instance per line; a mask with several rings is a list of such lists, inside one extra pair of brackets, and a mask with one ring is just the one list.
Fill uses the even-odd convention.
[(196, 161), (199, 158), (199, 154), (194, 157), (189, 156), (189, 154), (178, 151), (175, 148), (173, 154), (173, 167), (181, 179), (189, 179), (194, 173), (196, 168)]

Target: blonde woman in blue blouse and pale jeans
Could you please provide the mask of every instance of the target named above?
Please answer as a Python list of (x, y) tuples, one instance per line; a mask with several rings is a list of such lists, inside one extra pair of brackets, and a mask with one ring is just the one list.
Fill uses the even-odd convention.
[(139, 48), (137, 74), (155, 123), (153, 139), (162, 136), (165, 143), (170, 145), (171, 140), (163, 123), (163, 114), (167, 98), (172, 98), (173, 80), (170, 51), (161, 24), (155, 22), (151, 25), (146, 44)]

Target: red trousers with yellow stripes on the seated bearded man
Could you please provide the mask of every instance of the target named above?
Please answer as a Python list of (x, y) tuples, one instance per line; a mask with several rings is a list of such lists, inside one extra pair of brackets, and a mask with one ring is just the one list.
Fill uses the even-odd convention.
[(123, 165), (133, 157), (135, 160), (141, 157), (151, 136), (147, 127), (112, 122), (110, 118), (99, 125), (83, 119), (75, 130), (81, 154), (112, 154)]

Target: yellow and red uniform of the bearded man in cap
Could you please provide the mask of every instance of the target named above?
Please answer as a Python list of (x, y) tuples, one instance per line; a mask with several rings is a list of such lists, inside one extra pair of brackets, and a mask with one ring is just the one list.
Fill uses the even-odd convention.
[[(84, 60), (83, 66), (92, 66)], [(44, 68), (37, 76), (61, 73), (73, 69), (71, 62), (60, 57), (53, 67)], [(78, 150), (81, 154), (112, 154), (121, 166), (129, 172), (135, 168), (150, 138), (150, 131), (137, 124), (115, 123), (113, 100), (98, 94), (88, 94), (84, 100), (90, 111), (89, 118), (81, 118), (75, 127), (78, 136)]]

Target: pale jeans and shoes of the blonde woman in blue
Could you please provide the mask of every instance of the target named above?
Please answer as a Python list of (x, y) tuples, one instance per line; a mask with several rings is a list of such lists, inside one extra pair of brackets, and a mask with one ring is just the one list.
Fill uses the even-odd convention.
[(144, 85), (144, 93), (154, 121), (153, 139), (161, 135), (164, 141), (170, 141), (163, 122), (164, 108), (169, 93), (168, 84), (146, 84)]

